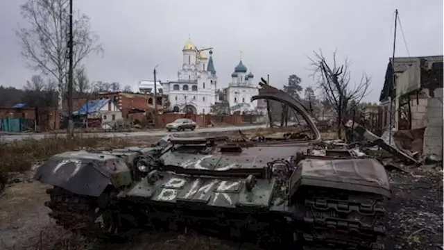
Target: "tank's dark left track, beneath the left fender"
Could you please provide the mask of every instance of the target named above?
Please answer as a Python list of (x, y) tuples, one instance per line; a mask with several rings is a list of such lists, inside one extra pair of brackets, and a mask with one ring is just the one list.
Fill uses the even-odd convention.
[(130, 229), (136, 227), (135, 218), (113, 205), (109, 194), (104, 193), (97, 199), (58, 187), (46, 192), (51, 197), (51, 201), (44, 204), (52, 210), (49, 217), (67, 230), (93, 238), (125, 240), (132, 233)]

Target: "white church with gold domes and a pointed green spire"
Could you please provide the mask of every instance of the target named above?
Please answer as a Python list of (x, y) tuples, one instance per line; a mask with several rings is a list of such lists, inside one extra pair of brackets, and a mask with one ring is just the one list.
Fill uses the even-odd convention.
[(174, 112), (208, 114), (216, 102), (217, 76), (213, 52), (209, 51), (208, 58), (205, 51), (199, 51), (189, 41), (182, 53), (183, 63), (178, 71), (178, 81), (162, 83), (163, 93), (168, 95), (170, 108)]

